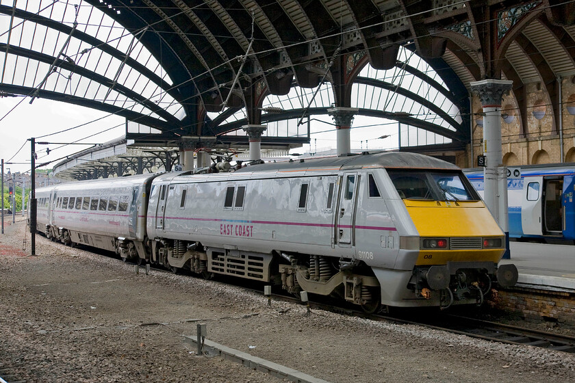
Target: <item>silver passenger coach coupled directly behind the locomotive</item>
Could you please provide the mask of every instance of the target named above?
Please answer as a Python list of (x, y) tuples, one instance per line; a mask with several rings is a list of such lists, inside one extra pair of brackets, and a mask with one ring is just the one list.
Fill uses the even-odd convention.
[(40, 188), (38, 230), (68, 245), (82, 243), (114, 251), (123, 259), (146, 259), (147, 195), (156, 175)]

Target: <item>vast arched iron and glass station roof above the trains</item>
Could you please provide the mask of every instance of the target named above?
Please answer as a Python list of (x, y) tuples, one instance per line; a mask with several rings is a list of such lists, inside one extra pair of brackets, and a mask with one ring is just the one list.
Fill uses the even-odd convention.
[(1, 0), (0, 95), (123, 116), (142, 146), (245, 146), (241, 128), (265, 124), (262, 146), (290, 148), (350, 107), (354, 126), (398, 125), (397, 147), (462, 149), (471, 81), (513, 80), (518, 115), (528, 83), (559, 105), (574, 15), (552, 0)]

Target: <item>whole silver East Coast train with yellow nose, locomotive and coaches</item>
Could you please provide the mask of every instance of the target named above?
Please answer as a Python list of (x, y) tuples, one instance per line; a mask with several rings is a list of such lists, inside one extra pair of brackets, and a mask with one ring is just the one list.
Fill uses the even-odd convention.
[(66, 243), (368, 311), (481, 303), (492, 283), (517, 280), (515, 267), (498, 267), (503, 233), (461, 170), (412, 153), (84, 181), (37, 196), (47, 198), (38, 230)]

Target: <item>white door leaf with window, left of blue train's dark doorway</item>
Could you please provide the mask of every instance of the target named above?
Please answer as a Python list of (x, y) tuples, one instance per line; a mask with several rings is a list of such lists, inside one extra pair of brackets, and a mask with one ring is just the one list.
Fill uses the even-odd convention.
[(521, 204), (521, 227), (523, 234), (543, 235), (541, 212), (543, 200), (543, 177), (523, 179), (523, 203)]

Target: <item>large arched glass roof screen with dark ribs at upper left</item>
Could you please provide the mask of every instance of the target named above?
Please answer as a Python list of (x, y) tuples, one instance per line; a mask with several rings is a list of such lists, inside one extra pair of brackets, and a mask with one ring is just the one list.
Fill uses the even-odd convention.
[(172, 79), (139, 41), (145, 29), (131, 34), (87, 4), (0, 0), (0, 31), (3, 85), (164, 122), (183, 117)]

